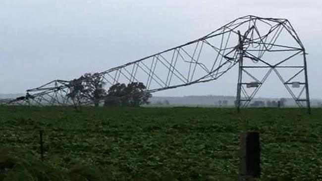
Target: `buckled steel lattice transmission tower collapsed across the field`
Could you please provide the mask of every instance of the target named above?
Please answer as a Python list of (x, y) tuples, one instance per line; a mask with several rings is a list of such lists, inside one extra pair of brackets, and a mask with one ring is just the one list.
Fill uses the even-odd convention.
[[(274, 72), (297, 105), (307, 107), (310, 113), (306, 51), (287, 19), (240, 17), (200, 39), (94, 74), (92, 78), (104, 80), (105, 90), (116, 83), (142, 82), (146, 92), (156, 92), (216, 80), (235, 65), (238, 110), (250, 104)], [(6, 102), (93, 104), (86, 96), (77, 101), (68, 96), (73, 89), (71, 83), (54, 80)]]

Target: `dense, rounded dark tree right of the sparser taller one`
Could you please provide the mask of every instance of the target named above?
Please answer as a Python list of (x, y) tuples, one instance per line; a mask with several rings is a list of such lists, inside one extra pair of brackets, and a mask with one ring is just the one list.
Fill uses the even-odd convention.
[(132, 82), (128, 85), (117, 83), (108, 89), (104, 105), (138, 107), (148, 104), (152, 95), (146, 90), (141, 82)]

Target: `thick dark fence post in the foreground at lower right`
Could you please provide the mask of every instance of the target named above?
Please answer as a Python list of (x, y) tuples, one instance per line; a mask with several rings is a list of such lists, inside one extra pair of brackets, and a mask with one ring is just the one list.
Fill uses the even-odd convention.
[(239, 175), (243, 179), (260, 178), (261, 154), (260, 134), (257, 132), (240, 133)]

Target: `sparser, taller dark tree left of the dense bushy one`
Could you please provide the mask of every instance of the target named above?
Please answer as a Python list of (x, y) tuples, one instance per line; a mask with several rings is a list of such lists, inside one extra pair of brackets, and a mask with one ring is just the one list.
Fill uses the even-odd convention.
[(89, 99), (93, 101), (95, 106), (99, 106), (100, 100), (106, 96), (104, 85), (106, 83), (98, 73), (86, 73), (78, 79), (74, 79), (68, 85), (69, 93), (67, 94), (74, 103), (82, 99)]

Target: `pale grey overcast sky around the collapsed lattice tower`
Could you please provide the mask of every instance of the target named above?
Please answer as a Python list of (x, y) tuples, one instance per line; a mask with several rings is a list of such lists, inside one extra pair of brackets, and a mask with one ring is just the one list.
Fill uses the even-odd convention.
[[(322, 98), (321, 0), (1, 0), (0, 93), (104, 71), (245, 15), (290, 20), (309, 53), (311, 97)], [(235, 95), (236, 75), (157, 95)], [(288, 95), (275, 82), (258, 96)]]

